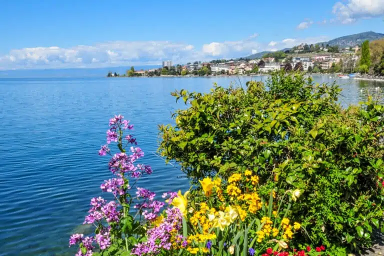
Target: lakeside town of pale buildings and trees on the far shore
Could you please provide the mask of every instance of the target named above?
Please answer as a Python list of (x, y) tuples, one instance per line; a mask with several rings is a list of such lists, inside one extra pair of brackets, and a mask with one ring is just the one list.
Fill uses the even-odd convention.
[[(301, 43), (284, 51), (267, 52), (259, 58), (216, 59), (209, 62), (194, 61), (175, 65), (172, 60), (166, 60), (162, 61), (162, 66), (158, 68), (135, 70), (132, 66), (125, 74), (109, 72), (107, 76), (251, 75), (270, 74), (281, 69), (306, 73), (358, 72), (363, 75), (369, 73), (369, 64), (365, 64), (366, 60), (361, 60), (364, 47), (369, 53), (368, 41), (349, 47)], [(369, 62), (377, 62), (377, 60), (369, 59)], [(381, 73), (381, 70), (378, 70), (378, 73)]]

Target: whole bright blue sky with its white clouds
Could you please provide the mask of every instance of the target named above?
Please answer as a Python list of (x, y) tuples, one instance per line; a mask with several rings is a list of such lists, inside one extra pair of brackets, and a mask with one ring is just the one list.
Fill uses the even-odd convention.
[(372, 30), (384, 0), (12, 0), (0, 69), (103, 67), (240, 57)]

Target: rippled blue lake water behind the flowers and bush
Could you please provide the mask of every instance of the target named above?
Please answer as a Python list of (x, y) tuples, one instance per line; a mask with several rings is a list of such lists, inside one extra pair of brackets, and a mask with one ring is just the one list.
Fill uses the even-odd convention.
[[(265, 76), (252, 79), (265, 80)], [(184, 107), (170, 91), (208, 91), (213, 82), (245, 84), (251, 77), (0, 79), (0, 255), (70, 255), (68, 238), (86, 231), (89, 199), (111, 175), (108, 158), (97, 155), (105, 143), (108, 119), (121, 113), (153, 174), (139, 185), (156, 191), (185, 190), (182, 173), (157, 157), (157, 125), (172, 122)], [(384, 92), (383, 82), (337, 80), (346, 106)]]

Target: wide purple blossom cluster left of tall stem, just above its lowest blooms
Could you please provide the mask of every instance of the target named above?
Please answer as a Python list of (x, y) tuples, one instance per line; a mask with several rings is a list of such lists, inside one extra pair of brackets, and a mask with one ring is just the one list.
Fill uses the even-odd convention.
[(85, 217), (84, 224), (92, 224), (94, 222), (105, 219), (108, 223), (118, 222), (120, 213), (117, 210), (116, 202), (106, 201), (101, 197), (94, 197), (90, 200), (92, 205), (88, 211), (88, 215)]

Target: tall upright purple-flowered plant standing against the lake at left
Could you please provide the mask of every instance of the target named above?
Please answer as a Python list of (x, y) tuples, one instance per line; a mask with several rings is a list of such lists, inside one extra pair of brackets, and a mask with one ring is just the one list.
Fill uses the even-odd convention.
[[(107, 249), (115, 239), (121, 239), (126, 235), (123, 231), (122, 224), (126, 213), (125, 203), (132, 203), (129, 194), (130, 186), (128, 184), (129, 177), (137, 179), (143, 174), (151, 174), (152, 169), (149, 165), (136, 164), (135, 161), (144, 156), (144, 152), (139, 147), (131, 146), (129, 154), (126, 153), (125, 147), (128, 144), (137, 145), (136, 139), (132, 135), (124, 135), (123, 131), (131, 130), (133, 125), (128, 120), (124, 120), (122, 115), (115, 115), (109, 119), (109, 129), (106, 131), (106, 144), (101, 145), (98, 154), (103, 156), (111, 155), (108, 162), (109, 170), (115, 174), (115, 177), (104, 180), (100, 188), (104, 192), (110, 192), (114, 195), (114, 200), (106, 201), (102, 197), (93, 197), (90, 200), (90, 209), (85, 217), (84, 224), (94, 224), (98, 231), (94, 236), (86, 236), (83, 234), (73, 234), (69, 239), (69, 246), (79, 244), (79, 250), (76, 256), (90, 256), (94, 246), (97, 243), (101, 250)], [(123, 140), (123, 138), (125, 140)], [(123, 141), (125, 145), (123, 145)], [(117, 142), (120, 152), (111, 154), (109, 144)], [(128, 174), (128, 175), (125, 175)], [(157, 213), (164, 203), (154, 200), (155, 194), (147, 189), (138, 188), (136, 208), (145, 219), (153, 220), (157, 217)], [(131, 217), (131, 216), (130, 216)], [(105, 225), (106, 224), (106, 225)], [(118, 235), (115, 235), (117, 233)], [(110, 235), (113, 234), (113, 235)], [(124, 248), (128, 250), (128, 247)], [(85, 253), (85, 254), (84, 254)]]

